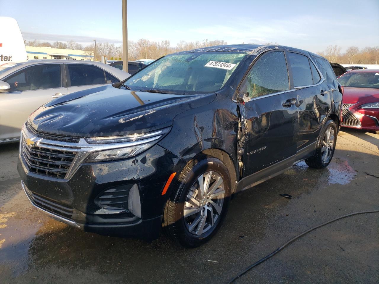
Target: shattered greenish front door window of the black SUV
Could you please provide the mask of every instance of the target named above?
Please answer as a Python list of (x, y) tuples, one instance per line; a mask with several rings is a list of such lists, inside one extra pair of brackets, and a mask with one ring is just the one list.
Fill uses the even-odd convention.
[(250, 98), (290, 89), (283, 51), (270, 52), (258, 59), (247, 75), (246, 94)]

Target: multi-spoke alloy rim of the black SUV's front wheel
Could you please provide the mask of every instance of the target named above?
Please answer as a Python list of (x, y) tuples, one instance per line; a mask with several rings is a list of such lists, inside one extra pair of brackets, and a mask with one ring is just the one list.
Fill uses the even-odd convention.
[(224, 181), (216, 172), (200, 175), (191, 186), (183, 217), (189, 233), (199, 236), (215, 225), (224, 204)]

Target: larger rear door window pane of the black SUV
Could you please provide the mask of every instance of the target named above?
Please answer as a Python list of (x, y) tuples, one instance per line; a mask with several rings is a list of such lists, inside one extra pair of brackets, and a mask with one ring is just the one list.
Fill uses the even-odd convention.
[(308, 57), (293, 52), (288, 52), (287, 54), (292, 69), (294, 87), (313, 85)]

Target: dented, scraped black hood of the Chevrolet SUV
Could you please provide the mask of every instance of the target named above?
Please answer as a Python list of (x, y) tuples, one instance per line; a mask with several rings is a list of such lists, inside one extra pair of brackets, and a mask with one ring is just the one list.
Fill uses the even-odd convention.
[(175, 115), (206, 105), (216, 94), (172, 95), (117, 89), (111, 85), (75, 92), (29, 116), (37, 131), (77, 137), (143, 133), (172, 125)]

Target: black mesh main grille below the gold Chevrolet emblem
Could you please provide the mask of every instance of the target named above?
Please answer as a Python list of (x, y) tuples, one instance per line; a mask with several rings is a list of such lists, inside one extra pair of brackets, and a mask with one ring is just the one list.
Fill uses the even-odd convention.
[(72, 151), (29, 146), (25, 139), (22, 139), (21, 147), (23, 161), (25, 161), (31, 172), (54, 178), (64, 178), (66, 176), (76, 154)]

